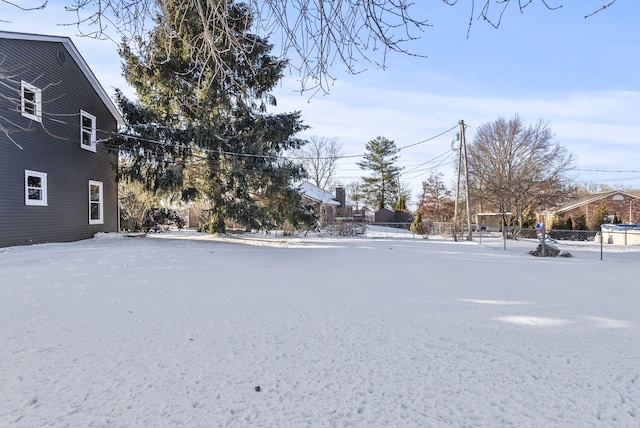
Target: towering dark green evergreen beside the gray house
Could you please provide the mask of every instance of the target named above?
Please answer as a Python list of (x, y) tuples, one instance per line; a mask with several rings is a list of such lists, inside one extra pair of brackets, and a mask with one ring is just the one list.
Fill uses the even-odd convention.
[[(223, 231), (226, 219), (247, 228), (296, 222), (300, 204), (290, 183), (303, 171), (281, 155), (302, 146), (294, 136), (305, 126), (298, 112), (266, 113), (275, 104), (269, 91), (285, 64), (270, 55), (267, 40), (249, 33), (252, 17), (244, 4), (229, 4), (225, 23), (244, 40), (243, 51), (228, 49), (224, 32), (199, 37), (217, 34), (220, 23), (203, 28), (200, 16), (208, 11), (179, 2), (163, 7), (148, 39), (135, 52), (127, 44), (121, 49), (125, 77), (139, 98), (132, 102), (118, 94), (130, 136), (119, 141), (127, 155), (123, 175), (206, 202), (212, 232)], [(211, 43), (217, 46), (207, 49), (225, 51), (224, 61), (232, 64), (224, 78), (210, 58), (193, 55)]]

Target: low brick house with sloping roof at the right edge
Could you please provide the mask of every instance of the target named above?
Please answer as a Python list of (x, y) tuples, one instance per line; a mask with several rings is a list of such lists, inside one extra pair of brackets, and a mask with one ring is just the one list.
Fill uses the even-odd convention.
[(621, 190), (598, 193), (586, 196), (565, 206), (556, 208), (544, 215), (544, 221), (548, 224), (553, 218), (564, 215), (565, 219), (574, 219), (578, 215), (584, 215), (587, 225), (591, 224), (596, 208), (604, 204), (609, 214), (617, 216), (623, 223), (640, 223), (640, 195)]

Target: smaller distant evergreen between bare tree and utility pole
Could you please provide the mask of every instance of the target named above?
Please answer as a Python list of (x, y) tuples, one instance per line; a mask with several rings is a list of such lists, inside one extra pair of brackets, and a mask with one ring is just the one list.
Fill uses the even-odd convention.
[(393, 208), (399, 199), (398, 178), (402, 170), (395, 164), (398, 148), (393, 141), (377, 137), (367, 143), (366, 149), (364, 160), (357, 163), (361, 169), (372, 173), (371, 176), (362, 177), (364, 200), (378, 209)]

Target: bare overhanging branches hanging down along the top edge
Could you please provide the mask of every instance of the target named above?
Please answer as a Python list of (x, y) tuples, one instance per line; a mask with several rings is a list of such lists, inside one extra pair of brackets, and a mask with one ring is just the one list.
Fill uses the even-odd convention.
[[(23, 10), (43, 9), (48, 5), (48, 0), (32, 7), (22, 2), (0, 1)], [(216, 31), (203, 31), (198, 40), (193, 41), (198, 49), (191, 55), (215, 64), (212, 68), (221, 79), (230, 71), (225, 61), (228, 52), (242, 55), (251, 49), (246, 39), (235, 37), (229, 31), (229, 20), (238, 19), (229, 16), (229, 4), (233, 0), (67, 1), (66, 9), (73, 18), (61, 24), (76, 26), (80, 34), (88, 37), (113, 37), (117, 43), (121, 37), (146, 39), (147, 27), (159, 14), (178, 28), (185, 25), (184, 16), (175, 11), (196, 11), (202, 27)], [(457, 0), (442, 1), (450, 6), (458, 3)], [(523, 12), (535, 1), (548, 9), (561, 7), (560, 0), (554, 0), (555, 4), (551, 4), (551, 0), (472, 0), (470, 5), (463, 6), (469, 11), (468, 31), (474, 19), (498, 27), (510, 4), (516, 3)], [(610, 7), (615, 1), (609, 1), (587, 16)], [(369, 63), (385, 67), (390, 52), (421, 56), (410, 51), (406, 42), (419, 38), (430, 26), (426, 17), (416, 17), (409, 0), (245, 0), (245, 3), (252, 11), (255, 31), (269, 38), (280, 37), (281, 58), (299, 72), (302, 91), (328, 91), (333, 80), (330, 67), (336, 62), (346, 65), (350, 73), (359, 73)], [(479, 11), (477, 15), (476, 11)], [(215, 48), (220, 46), (220, 40), (224, 40), (228, 49)], [(360, 61), (362, 59), (365, 61)]]

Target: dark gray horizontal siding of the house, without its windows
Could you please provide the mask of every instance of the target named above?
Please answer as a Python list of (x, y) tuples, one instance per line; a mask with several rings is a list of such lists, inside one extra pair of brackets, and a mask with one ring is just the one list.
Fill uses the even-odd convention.
[[(116, 118), (63, 43), (0, 38), (0, 55), (3, 74), (15, 76), (0, 86), (2, 125), (28, 129), (10, 134), (21, 148), (0, 134), (0, 247), (117, 231), (117, 154), (80, 147), (80, 110), (96, 116), (98, 140)], [(20, 113), (21, 80), (42, 89), (41, 124)], [(25, 205), (25, 170), (47, 174), (47, 206)], [(89, 225), (89, 180), (104, 186), (103, 224)]]

